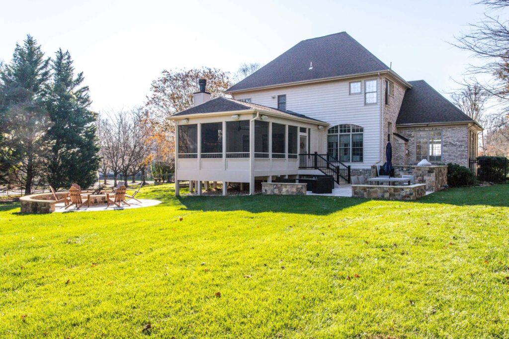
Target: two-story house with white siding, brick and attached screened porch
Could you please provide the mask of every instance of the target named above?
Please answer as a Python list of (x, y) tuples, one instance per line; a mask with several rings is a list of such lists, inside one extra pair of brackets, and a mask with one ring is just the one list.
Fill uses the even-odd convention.
[(428, 83), (406, 81), (345, 32), (299, 42), (227, 93), (233, 99), (210, 100), (202, 83), (194, 107), (172, 117), (177, 180), (245, 182), (252, 193), (257, 181), (298, 175), (302, 154), (315, 152), (367, 176), (385, 162), (387, 142), (394, 164), (468, 166), (482, 131)]

